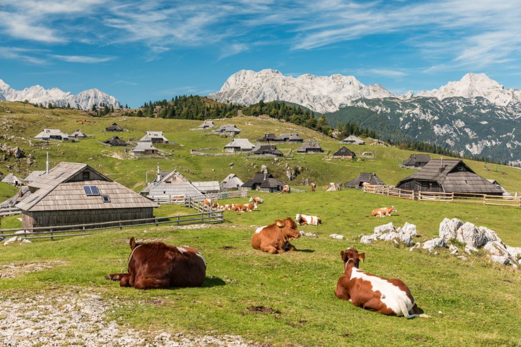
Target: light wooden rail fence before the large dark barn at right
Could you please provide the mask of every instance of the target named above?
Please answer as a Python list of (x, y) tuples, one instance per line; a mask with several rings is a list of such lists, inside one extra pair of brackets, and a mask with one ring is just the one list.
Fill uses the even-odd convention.
[(472, 193), (415, 192), (387, 185), (370, 185), (364, 192), (379, 195), (400, 197), (418, 201), (441, 201), (451, 203), (467, 203), (480, 205), (521, 207), (521, 196), (502, 196)]

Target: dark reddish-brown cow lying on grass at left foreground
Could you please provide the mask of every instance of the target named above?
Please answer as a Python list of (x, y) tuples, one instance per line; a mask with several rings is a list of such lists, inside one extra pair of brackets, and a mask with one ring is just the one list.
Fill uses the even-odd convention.
[(204, 282), (206, 261), (193, 248), (163, 242), (137, 243), (131, 238), (130, 249), (128, 274), (107, 275), (106, 279), (135, 289), (200, 287)]

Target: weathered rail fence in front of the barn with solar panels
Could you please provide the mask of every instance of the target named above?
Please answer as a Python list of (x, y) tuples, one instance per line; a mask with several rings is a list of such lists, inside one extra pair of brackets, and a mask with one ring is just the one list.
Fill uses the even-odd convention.
[(222, 210), (209, 210), (202, 213), (190, 215), (178, 215), (169, 217), (154, 217), (132, 220), (118, 220), (111, 222), (91, 223), (91, 224), (75, 224), (55, 227), (36, 227), (36, 228), (19, 228), (19, 229), (1, 229), (0, 236), (4, 238), (20, 237), (22, 239), (44, 239), (71, 237), (90, 235), (109, 229), (123, 229), (123, 227), (137, 227), (145, 225), (173, 224), (176, 226), (184, 226), (191, 224), (203, 223), (220, 223), (224, 221)]

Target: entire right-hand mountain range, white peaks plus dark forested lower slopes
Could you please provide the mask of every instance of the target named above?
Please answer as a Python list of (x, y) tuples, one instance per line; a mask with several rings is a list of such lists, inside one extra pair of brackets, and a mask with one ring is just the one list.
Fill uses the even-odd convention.
[(355, 122), (386, 140), (430, 142), (521, 166), (521, 90), (504, 89), (483, 73), (467, 73), (439, 89), (396, 95), (353, 76), (241, 70), (209, 97), (245, 105), (286, 101), (325, 114), (332, 126)]

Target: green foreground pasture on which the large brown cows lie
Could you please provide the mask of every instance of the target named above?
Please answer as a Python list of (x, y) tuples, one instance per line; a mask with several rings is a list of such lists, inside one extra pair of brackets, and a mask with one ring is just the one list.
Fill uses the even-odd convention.
[[(443, 217), (485, 225), (512, 246), (521, 246), (521, 213), (513, 208), (420, 203), (364, 194), (355, 190), (305, 194), (262, 194), (266, 203), (251, 213), (227, 212), (226, 224), (206, 229), (177, 230), (170, 226), (134, 228), (60, 241), (33, 242), (0, 248), (0, 264), (63, 259), (51, 270), (0, 280), (0, 295), (48, 290), (53, 295), (90, 288), (123, 304), (109, 319), (137, 329), (203, 334), (233, 333), (273, 345), (517, 345), (521, 339), (521, 278), (518, 271), (491, 264), (484, 255), (462, 262), (446, 251), (409, 252), (393, 243), (362, 245), (358, 235), (377, 225), (405, 221), (418, 226), (418, 241), (438, 231)], [(239, 200), (238, 202), (242, 202)], [(394, 204), (399, 213), (370, 218), (371, 209)], [(164, 206), (165, 207), (165, 206)], [(161, 207), (157, 212), (161, 212)], [(168, 207), (166, 213), (183, 213)], [(508, 213), (506, 213), (508, 211)], [(187, 213), (190, 213), (187, 210)], [(296, 213), (317, 215), (322, 226), (301, 230), (318, 238), (300, 238), (299, 251), (271, 255), (250, 246), (253, 228)], [(346, 240), (333, 240), (331, 233)], [(199, 249), (208, 262), (202, 288), (138, 291), (120, 288), (104, 275), (126, 266), (128, 239), (161, 240)], [(334, 296), (342, 275), (340, 251), (366, 252), (365, 271), (400, 278), (431, 319), (386, 317), (354, 307)], [(264, 306), (266, 312), (249, 307)], [(271, 309), (270, 309), (271, 308)], [(279, 312), (280, 313), (277, 313)], [(441, 311), (442, 314), (438, 312)]]

